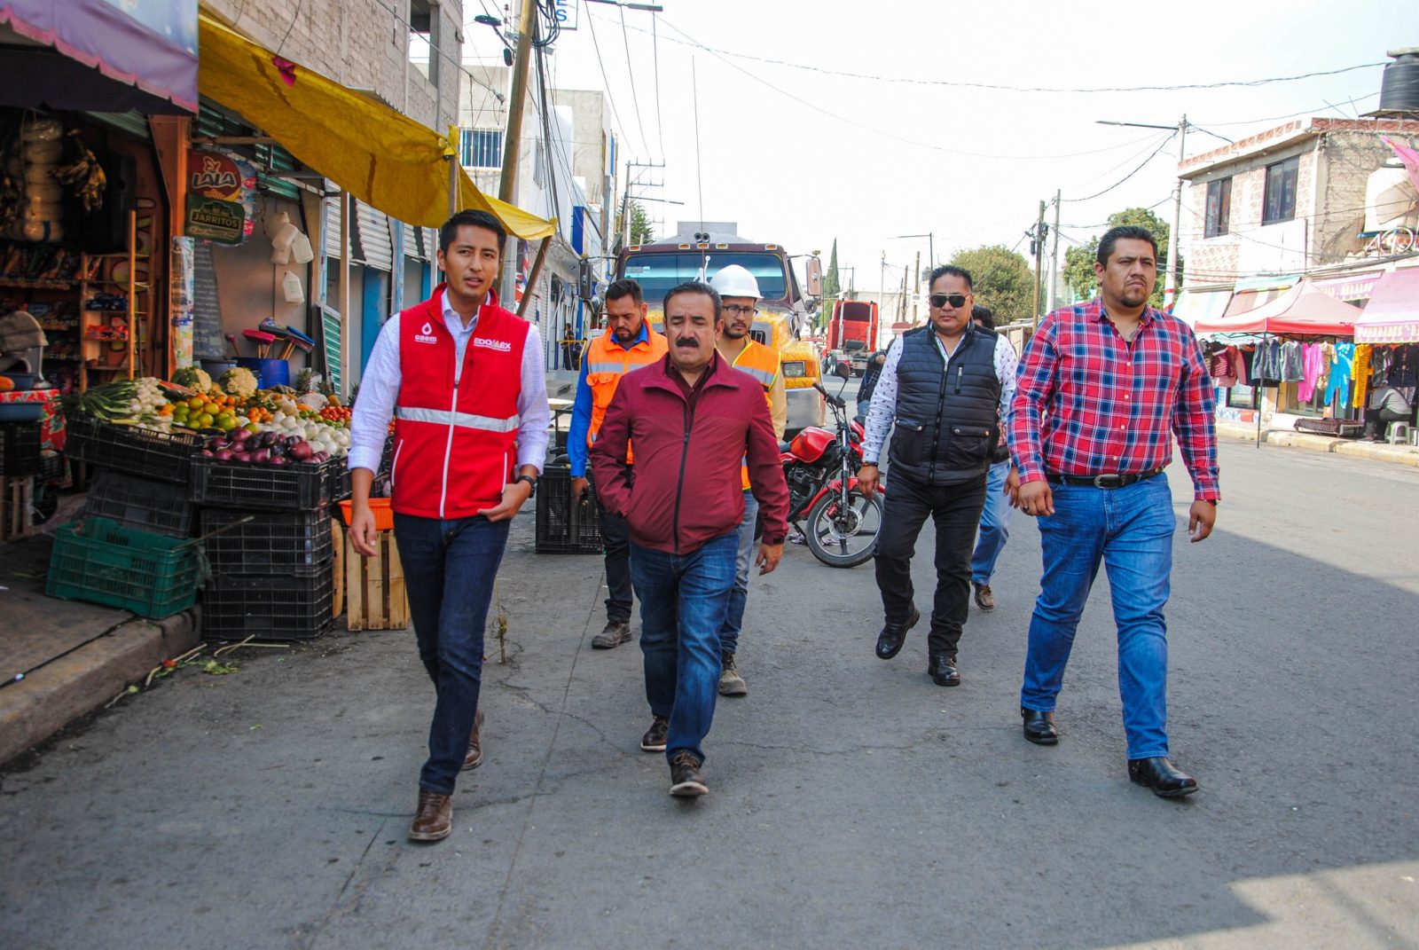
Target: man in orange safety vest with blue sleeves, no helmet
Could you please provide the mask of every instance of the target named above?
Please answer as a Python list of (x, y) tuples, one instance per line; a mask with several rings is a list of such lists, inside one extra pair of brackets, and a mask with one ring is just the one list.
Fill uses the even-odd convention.
[[(586, 454), (606, 419), (622, 376), (648, 366), (666, 355), (666, 338), (646, 321), (646, 300), (640, 284), (619, 280), (606, 288), (606, 332), (592, 339), (576, 381), (572, 425), (566, 433), (566, 456), (572, 474), (572, 498), (586, 491)], [(626, 521), (596, 498), (602, 544), (606, 548), (606, 628), (592, 638), (592, 646), (609, 650), (630, 639), (630, 534)]]

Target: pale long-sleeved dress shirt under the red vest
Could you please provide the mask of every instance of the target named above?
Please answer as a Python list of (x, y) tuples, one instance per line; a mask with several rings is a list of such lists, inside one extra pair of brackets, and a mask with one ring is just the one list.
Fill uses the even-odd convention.
[[(448, 305), (448, 291), (443, 295), (443, 321), (453, 335), (457, 368), (454, 382), (463, 375), (463, 355), (478, 327), (474, 314), (464, 327), (463, 317)], [(394, 417), (394, 403), (399, 399), (402, 381), (399, 366), (399, 314), (390, 317), (379, 331), (369, 365), (359, 383), (359, 399), (350, 419), (350, 469), (379, 471), (385, 453), (385, 437), (389, 420)], [(546, 371), (542, 368), (542, 334), (536, 325), (528, 327), (528, 338), (522, 345), (522, 392), (518, 393), (518, 467), (535, 466), (542, 471), (546, 462), (548, 425), (552, 412), (546, 402)]]

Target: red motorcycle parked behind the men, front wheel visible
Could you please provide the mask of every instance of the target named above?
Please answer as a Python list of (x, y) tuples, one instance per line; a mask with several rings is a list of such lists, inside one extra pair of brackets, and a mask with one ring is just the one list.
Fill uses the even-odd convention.
[[(851, 375), (847, 364), (833, 372)], [(883, 504), (878, 493), (863, 494), (857, 488), (857, 470), (863, 466), (863, 426), (849, 420), (841, 388), (833, 396), (822, 385), (833, 413), (836, 432), (809, 426), (793, 436), (783, 453), (783, 477), (789, 483), (789, 524), (803, 533), (807, 550), (823, 564), (851, 568), (870, 561), (877, 551), (877, 534), (883, 524)]]

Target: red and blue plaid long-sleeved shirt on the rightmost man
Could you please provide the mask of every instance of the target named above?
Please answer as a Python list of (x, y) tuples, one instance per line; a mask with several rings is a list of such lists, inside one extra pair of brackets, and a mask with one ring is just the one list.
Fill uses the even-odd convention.
[(1103, 300), (1056, 310), (1025, 348), (1017, 383), (1010, 454), (1022, 483), (1161, 469), (1175, 432), (1196, 497), (1220, 497), (1212, 378), (1181, 320), (1148, 307), (1124, 342)]

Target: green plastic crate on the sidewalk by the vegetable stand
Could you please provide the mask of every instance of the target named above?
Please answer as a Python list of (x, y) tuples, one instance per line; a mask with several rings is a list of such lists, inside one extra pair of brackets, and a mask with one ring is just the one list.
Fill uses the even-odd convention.
[(55, 531), (44, 592), (158, 621), (193, 605), (200, 577), (196, 542), (88, 518)]

